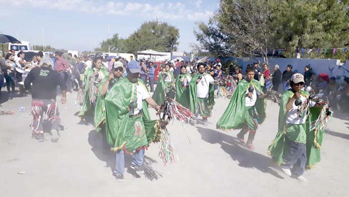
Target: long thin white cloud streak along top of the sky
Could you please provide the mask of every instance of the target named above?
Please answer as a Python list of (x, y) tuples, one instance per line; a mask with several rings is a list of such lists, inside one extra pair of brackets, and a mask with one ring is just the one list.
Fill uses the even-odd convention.
[[(110, 15), (138, 15), (159, 19), (205, 20), (213, 15), (212, 11), (192, 9), (181, 2), (168, 2), (152, 5), (149, 3), (112, 1), (112, 0), (0, 0), (0, 5), (32, 6), (42, 9), (73, 10), (85, 13), (106, 13)], [(195, 1), (197, 8), (202, 0)]]

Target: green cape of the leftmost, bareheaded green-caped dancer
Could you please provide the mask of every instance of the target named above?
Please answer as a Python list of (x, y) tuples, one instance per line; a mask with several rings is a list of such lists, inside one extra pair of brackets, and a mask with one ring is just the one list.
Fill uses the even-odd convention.
[[(100, 71), (104, 74), (104, 76), (108, 76), (108, 74), (109, 74), (104, 65), (102, 65)], [(84, 73), (84, 77), (83, 77), (83, 85), (84, 85), (83, 104), (82, 104), (80, 112), (78, 114), (81, 118), (84, 118), (86, 112), (92, 108), (92, 103), (90, 100), (90, 90), (92, 88), (91, 85), (93, 85), (93, 82), (94, 82), (93, 73), (94, 73), (94, 70), (92, 68), (88, 68)], [(98, 85), (96, 86), (96, 88), (98, 90), (99, 90), (99, 87), (101, 87), (101, 84), (102, 84), (102, 82), (98, 83)]]

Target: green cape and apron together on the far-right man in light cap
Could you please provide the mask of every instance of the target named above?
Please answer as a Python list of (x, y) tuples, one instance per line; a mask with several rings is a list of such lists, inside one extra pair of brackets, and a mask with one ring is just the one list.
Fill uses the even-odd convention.
[[(304, 124), (288, 124), (286, 123), (286, 104), (288, 100), (293, 96), (293, 92), (290, 90), (285, 91), (280, 99), (279, 110), (279, 126), (275, 139), (269, 145), (268, 153), (272, 156), (274, 162), (283, 164), (283, 152), (287, 148), (285, 138), (290, 140), (301, 142), (306, 144), (307, 162), (306, 168), (312, 168), (317, 162), (321, 160), (320, 147), (323, 140), (324, 129), (310, 131), (309, 126), (312, 121), (316, 120), (321, 108), (310, 107), (308, 111), (308, 117)], [(301, 90), (301, 94), (308, 96), (309, 93)], [(305, 138), (302, 135), (306, 135)], [(305, 140), (305, 141), (304, 141)]]

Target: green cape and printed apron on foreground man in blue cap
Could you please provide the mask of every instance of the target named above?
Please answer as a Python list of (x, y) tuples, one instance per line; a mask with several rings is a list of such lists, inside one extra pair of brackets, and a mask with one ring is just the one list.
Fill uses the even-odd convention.
[(156, 136), (160, 130), (159, 120), (150, 119), (145, 100), (142, 102), (141, 114), (129, 116), (128, 106), (135, 85), (143, 85), (147, 89), (140, 79), (137, 83), (131, 83), (127, 78), (121, 78), (113, 84), (104, 98), (106, 138), (113, 151), (124, 149), (131, 152), (158, 141)]

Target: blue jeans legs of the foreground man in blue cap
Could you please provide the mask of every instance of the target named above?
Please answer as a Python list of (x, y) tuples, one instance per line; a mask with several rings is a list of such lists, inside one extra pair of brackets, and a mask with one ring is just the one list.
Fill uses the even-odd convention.
[[(131, 165), (140, 166), (144, 161), (144, 148), (141, 148), (139, 151), (136, 150), (134, 153), (133, 160)], [(115, 168), (114, 174), (122, 174), (125, 171), (125, 157), (124, 150), (119, 150), (115, 154)]]

